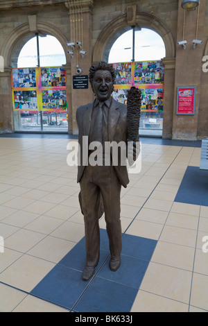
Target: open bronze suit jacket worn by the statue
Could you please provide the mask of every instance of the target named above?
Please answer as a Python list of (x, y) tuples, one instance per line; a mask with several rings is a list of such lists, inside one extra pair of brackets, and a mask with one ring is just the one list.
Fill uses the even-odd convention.
[[(88, 149), (86, 150), (88, 142), (83, 142), (83, 136), (89, 137), (93, 108), (94, 102), (80, 106), (76, 112), (76, 120), (78, 123), (78, 142), (80, 145), (80, 164), (78, 164), (77, 182), (80, 182), (85, 166), (87, 165), (86, 161), (88, 160), (88, 156), (83, 157), (83, 149), (85, 147), (85, 153), (88, 153)], [(112, 104), (110, 106), (108, 115), (108, 137), (110, 142), (116, 141), (116, 143), (119, 143), (120, 141), (125, 141), (125, 144), (127, 144), (128, 130), (126, 116), (127, 105), (119, 103), (112, 98)], [(124, 155), (126, 156), (126, 151)], [(123, 185), (123, 187), (127, 187), (129, 182), (127, 167), (121, 165), (121, 162), (118, 162), (118, 164), (114, 166), (114, 169), (119, 181), (121, 182), (121, 185)]]

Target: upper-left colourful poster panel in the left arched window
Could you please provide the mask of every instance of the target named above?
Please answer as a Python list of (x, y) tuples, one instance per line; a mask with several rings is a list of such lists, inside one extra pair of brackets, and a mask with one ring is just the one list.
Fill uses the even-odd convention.
[(12, 69), (12, 88), (37, 87), (37, 68)]

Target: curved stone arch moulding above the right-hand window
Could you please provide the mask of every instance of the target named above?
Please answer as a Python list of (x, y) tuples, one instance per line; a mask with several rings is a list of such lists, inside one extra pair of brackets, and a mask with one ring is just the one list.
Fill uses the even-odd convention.
[[(175, 58), (175, 42), (170, 29), (159, 18), (148, 14), (147, 12), (137, 12), (136, 22), (140, 28), (149, 28), (158, 33), (166, 49), (166, 58)], [(116, 39), (126, 31), (130, 30), (127, 16), (121, 15), (108, 24), (96, 40), (92, 56), (93, 62), (101, 60), (107, 61), (112, 44)]]

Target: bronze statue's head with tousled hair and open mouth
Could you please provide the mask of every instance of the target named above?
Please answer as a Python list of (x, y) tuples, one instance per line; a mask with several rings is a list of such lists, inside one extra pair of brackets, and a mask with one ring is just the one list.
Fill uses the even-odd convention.
[(115, 70), (106, 62), (99, 62), (89, 69), (89, 83), (99, 101), (106, 101), (114, 90)]

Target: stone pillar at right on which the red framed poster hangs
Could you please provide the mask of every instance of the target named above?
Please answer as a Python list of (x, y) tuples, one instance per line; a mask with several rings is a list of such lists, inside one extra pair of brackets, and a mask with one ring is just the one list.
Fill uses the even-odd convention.
[[(200, 105), (200, 80), (202, 74), (202, 44), (198, 44), (193, 49), (193, 40), (203, 40), (204, 24), (206, 12), (206, 0), (200, 0), (199, 16), (198, 8), (196, 10), (185, 12), (181, 8), (182, 0), (178, 1), (177, 15), (177, 42), (182, 41), (183, 26), (184, 40), (187, 40), (187, 46), (184, 50), (182, 46), (177, 45), (175, 57), (175, 87), (174, 87), (174, 107), (173, 107), (173, 139), (196, 140), (198, 137), (198, 113)], [(196, 36), (198, 19), (198, 35)], [(196, 86), (196, 109), (194, 115), (177, 115), (177, 87)]]

